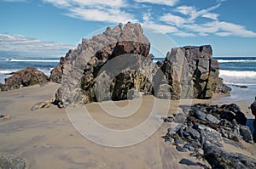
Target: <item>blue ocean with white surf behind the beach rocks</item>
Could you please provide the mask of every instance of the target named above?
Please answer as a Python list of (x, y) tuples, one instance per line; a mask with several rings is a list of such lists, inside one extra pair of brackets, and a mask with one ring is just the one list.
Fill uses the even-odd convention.
[[(250, 101), (256, 96), (256, 57), (214, 57), (218, 59), (219, 76), (232, 88), (231, 96), (219, 100), (220, 102)], [(155, 58), (154, 61), (164, 58)], [(12, 72), (22, 70), (27, 66), (38, 68), (47, 76), (56, 65), (59, 58), (7, 58), (0, 57), (0, 82), (4, 82)], [(237, 86), (247, 86), (241, 88)]]

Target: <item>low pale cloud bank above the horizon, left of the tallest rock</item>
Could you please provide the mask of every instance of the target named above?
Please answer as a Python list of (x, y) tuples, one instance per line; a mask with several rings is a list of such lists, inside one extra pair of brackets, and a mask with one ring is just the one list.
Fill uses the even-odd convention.
[(44, 42), (40, 39), (21, 35), (0, 34), (0, 52), (26, 54), (26, 56), (61, 56), (67, 53), (71, 45), (56, 42)]

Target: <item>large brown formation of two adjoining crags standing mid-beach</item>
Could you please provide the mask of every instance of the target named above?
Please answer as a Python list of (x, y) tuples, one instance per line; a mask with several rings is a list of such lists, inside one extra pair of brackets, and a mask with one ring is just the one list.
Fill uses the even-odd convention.
[(162, 99), (210, 99), (217, 90), (218, 61), (212, 48), (172, 48), (163, 62), (154, 64), (150, 42), (139, 24), (108, 27), (102, 34), (83, 39), (51, 72), (61, 82), (58, 104), (132, 99), (153, 94)]

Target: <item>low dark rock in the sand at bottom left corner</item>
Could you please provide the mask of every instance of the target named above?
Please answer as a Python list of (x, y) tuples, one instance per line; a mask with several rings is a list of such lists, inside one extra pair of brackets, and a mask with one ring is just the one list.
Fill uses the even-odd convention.
[(2, 156), (0, 157), (0, 168), (1, 169), (25, 169), (26, 168), (26, 161), (21, 158), (13, 158)]

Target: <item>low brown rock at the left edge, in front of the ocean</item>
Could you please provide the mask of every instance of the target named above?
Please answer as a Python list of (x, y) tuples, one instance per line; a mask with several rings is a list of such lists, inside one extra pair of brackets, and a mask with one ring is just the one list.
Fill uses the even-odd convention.
[(48, 76), (36, 68), (27, 67), (24, 70), (16, 71), (13, 76), (5, 79), (5, 84), (0, 85), (0, 87), (2, 91), (7, 91), (35, 84), (43, 84), (45, 82), (49, 82)]

